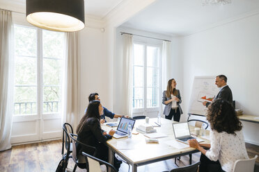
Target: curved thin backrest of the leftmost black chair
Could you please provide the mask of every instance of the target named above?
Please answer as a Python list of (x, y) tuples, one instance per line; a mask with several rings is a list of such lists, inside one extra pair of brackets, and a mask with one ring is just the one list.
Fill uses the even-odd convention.
[(65, 149), (68, 150), (68, 154), (70, 153), (71, 139), (69, 137), (69, 133), (74, 133), (73, 128), (69, 123), (64, 123), (63, 124), (62, 155), (64, 155), (64, 145), (65, 145)]

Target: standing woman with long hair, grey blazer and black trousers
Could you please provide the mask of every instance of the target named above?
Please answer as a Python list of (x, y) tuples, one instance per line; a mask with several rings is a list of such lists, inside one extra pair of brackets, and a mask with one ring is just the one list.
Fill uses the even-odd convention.
[(166, 105), (164, 107), (164, 115), (166, 119), (172, 119), (173, 121), (180, 121), (180, 115), (182, 114), (182, 108), (180, 103), (182, 103), (181, 95), (179, 89), (175, 89), (176, 81), (175, 79), (168, 80), (167, 89), (163, 92), (162, 103)]

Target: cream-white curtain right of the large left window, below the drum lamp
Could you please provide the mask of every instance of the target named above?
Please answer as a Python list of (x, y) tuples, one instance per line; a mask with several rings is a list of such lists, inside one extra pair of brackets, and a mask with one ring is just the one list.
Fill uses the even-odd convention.
[(74, 132), (80, 117), (80, 58), (79, 33), (65, 33), (65, 88), (64, 88), (64, 119), (70, 123)]

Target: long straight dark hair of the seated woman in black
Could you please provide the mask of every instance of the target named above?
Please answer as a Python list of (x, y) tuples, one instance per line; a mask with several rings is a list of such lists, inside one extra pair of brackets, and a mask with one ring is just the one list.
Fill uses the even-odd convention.
[(77, 135), (84, 128), (84, 125), (89, 118), (97, 118), (100, 121), (100, 112), (99, 112), (100, 101), (91, 101), (87, 107), (86, 114), (80, 120), (77, 126)]

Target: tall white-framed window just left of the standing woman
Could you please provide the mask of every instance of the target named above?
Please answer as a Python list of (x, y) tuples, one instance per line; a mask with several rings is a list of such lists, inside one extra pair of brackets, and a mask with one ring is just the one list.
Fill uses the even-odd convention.
[(133, 44), (133, 114), (150, 116), (159, 111), (160, 50), (158, 45)]

